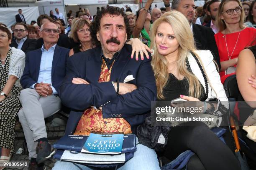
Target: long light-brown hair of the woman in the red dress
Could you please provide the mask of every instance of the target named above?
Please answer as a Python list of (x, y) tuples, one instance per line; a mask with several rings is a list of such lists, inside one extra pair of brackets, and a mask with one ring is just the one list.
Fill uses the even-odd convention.
[(220, 18), (220, 15), (222, 15), (222, 13), (224, 12), (224, 5), (230, 1), (236, 1), (238, 2), (239, 6), (242, 7), (242, 10), (241, 10), (241, 16), (240, 16), (240, 20), (239, 20), (239, 27), (241, 29), (245, 28), (245, 26), (243, 25), (244, 23), (244, 20), (245, 20), (245, 14), (244, 14), (244, 10), (243, 10), (243, 5), (241, 4), (240, 0), (223, 0), (221, 3), (220, 3), (220, 6), (218, 8), (218, 13), (216, 15), (216, 23), (217, 23), (217, 27), (219, 28), (219, 31), (223, 31), (227, 28), (224, 20), (222, 20)]

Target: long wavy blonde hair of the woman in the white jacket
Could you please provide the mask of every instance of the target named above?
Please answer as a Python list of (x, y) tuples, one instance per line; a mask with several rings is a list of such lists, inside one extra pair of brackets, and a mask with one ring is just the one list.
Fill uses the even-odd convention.
[[(172, 26), (175, 38), (179, 43), (179, 57), (176, 61), (178, 73), (183, 75), (188, 80), (189, 96), (199, 98), (203, 90), (201, 88), (200, 81), (194, 74), (187, 70), (187, 66), (185, 64), (189, 52), (193, 52), (197, 56), (195, 52), (195, 41), (187, 18), (185, 18), (185, 16), (178, 11), (164, 13), (153, 23), (150, 31), (151, 49), (154, 49), (154, 56), (152, 57), (151, 65), (156, 78), (157, 97), (159, 99), (164, 99), (163, 88), (169, 81), (168, 62), (163, 55), (159, 54), (155, 43), (157, 28), (161, 23), (168, 23)], [(200, 61), (198, 56), (197, 58)]]

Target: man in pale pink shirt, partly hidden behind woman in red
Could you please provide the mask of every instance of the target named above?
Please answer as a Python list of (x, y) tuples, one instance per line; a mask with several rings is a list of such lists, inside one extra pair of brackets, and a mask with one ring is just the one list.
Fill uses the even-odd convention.
[(216, 15), (217, 15), (219, 6), (220, 6), (220, 0), (211, 0), (209, 5), (207, 6), (207, 14), (210, 15), (211, 21), (207, 23), (205, 26), (212, 28), (212, 31), (215, 34), (219, 32), (218, 27), (215, 25)]

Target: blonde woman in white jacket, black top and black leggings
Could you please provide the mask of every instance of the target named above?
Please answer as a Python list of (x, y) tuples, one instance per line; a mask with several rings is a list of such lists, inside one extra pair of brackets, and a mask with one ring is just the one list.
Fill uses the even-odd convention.
[[(154, 49), (151, 65), (156, 78), (158, 100), (170, 101), (177, 97), (187, 101), (212, 98), (218, 101), (228, 100), (211, 52), (196, 50), (189, 23), (182, 13), (164, 13), (153, 23), (150, 38), (151, 48)], [(186, 103), (189, 102), (185, 102), (185, 105)], [(204, 108), (212, 109), (218, 115), (224, 114), (228, 107), (223, 102), (218, 102), (217, 105), (202, 103), (206, 104)], [(147, 120), (148, 118), (146, 123)], [(137, 130), (139, 142), (150, 148), (159, 148), (157, 143), (162, 133), (165, 138), (164, 156), (169, 160), (191, 150), (207, 170), (240, 169), (230, 148), (203, 122), (184, 122), (183, 125), (169, 129), (152, 127), (150, 123), (146, 123)]]

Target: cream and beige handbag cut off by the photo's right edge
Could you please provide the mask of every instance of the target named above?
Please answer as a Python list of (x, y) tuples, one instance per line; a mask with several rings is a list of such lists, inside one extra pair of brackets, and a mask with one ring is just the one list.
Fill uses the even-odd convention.
[(244, 122), (243, 130), (247, 132), (247, 138), (256, 142), (256, 110)]

